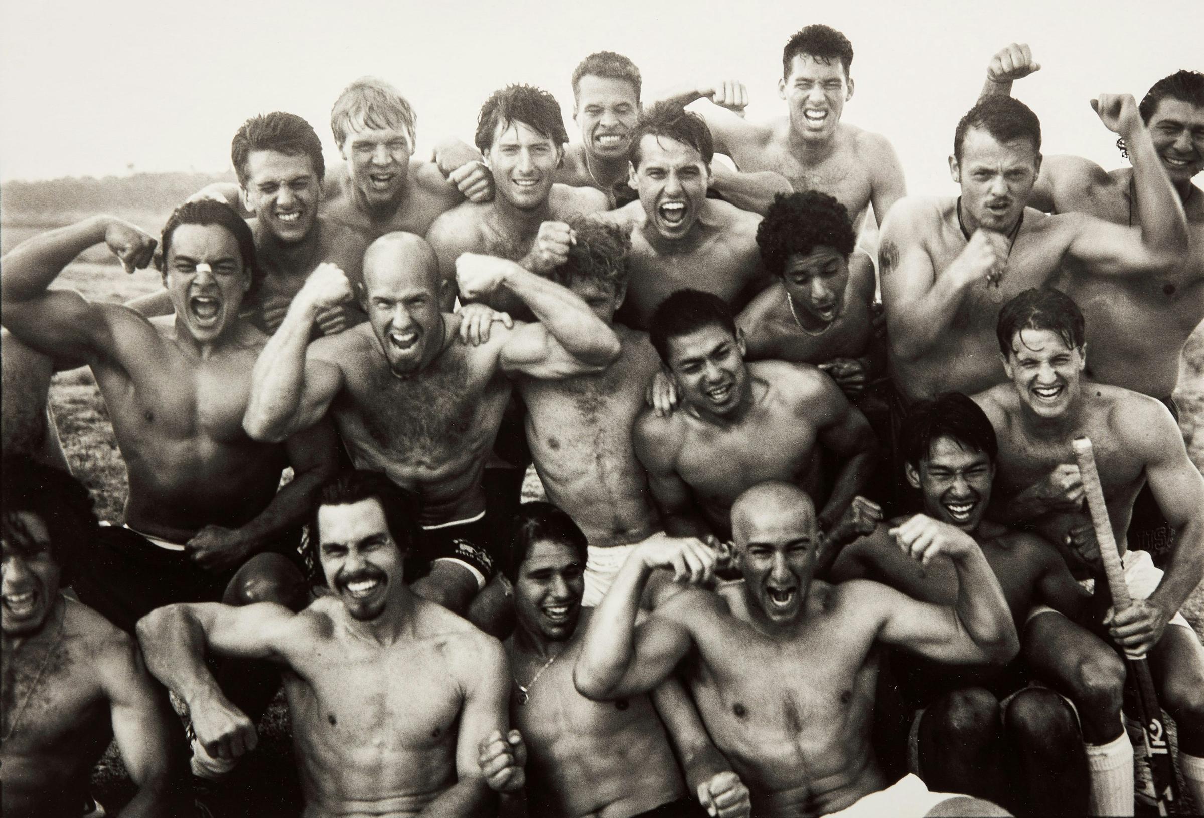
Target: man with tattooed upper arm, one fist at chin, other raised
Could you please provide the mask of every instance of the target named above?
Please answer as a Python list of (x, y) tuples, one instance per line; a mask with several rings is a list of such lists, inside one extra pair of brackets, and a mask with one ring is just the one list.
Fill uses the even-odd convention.
[(1004, 96), (979, 101), (957, 124), (949, 168), (961, 196), (910, 197), (883, 225), (889, 366), (902, 403), (1005, 380), (996, 318), (1021, 290), (1057, 275), (1150, 279), (1180, 263), (1184, 209), (1137, 102), (1103, 94), (1092, 107), (1131, 146), (1139, 226), (1025, 207), (1041, 166), (1040, 123)]

